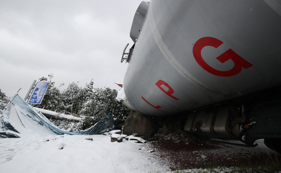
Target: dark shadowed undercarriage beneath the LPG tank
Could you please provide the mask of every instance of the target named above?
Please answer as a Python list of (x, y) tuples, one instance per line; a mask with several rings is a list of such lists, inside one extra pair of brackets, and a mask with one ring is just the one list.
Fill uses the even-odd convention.
[(190, 112), (184, 130), (197, 136), (240, 140), (246, 146), (264, 139), (281, 152), (281, 87), (253, 93)]

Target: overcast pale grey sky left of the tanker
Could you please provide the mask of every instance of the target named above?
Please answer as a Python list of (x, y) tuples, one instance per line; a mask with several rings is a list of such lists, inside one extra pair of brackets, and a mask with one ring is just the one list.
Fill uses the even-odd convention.
[(92, 78), (95, 88), (119, 89), (120, 63), (142, 1), (0, 1), (0, 89), (25, 97), (33, 80), (54, 75), (56, 87)]

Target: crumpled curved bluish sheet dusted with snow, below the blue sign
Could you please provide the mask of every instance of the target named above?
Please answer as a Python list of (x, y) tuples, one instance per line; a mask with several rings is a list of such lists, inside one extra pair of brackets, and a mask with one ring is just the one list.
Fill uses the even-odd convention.
[[(80, 131), (69, 132), (59, 129), (50, 122), (43, 114), (38, 113), (34, 108), (28, 105), (19, 95), (15, 95), (6, 111), (0, 116), (2, 128), (0, 136), (23, 137), (36, 134), (70, 134), (70, 135), (93, 135), (103, 134), (114, 127), (113, 118), (110, 114), (103, 117), (96, 125)], [(14, 131), (10, 134), (8, 130)], [(42, 131), (43, 130), (43, 131)]]

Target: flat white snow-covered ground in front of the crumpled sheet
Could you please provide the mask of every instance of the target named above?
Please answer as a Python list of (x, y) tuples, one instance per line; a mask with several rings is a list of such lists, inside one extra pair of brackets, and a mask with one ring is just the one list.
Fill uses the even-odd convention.
[(110, 142), (109, 135), (0, 138), (0, 172), (169, 171), (145, 145)]

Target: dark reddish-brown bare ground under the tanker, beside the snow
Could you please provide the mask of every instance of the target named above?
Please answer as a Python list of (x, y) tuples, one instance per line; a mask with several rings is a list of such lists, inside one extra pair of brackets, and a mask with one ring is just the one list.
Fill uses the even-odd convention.
[(280, 165), (281, 155), (266, 148), (259, 141), (258, 147), (245, 147), (218, 143), (212, 140), (152, 141), (149, 146), (171, 170), (207, 168), (217, 166)]

